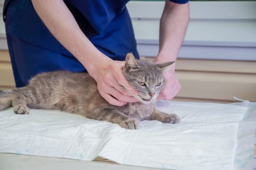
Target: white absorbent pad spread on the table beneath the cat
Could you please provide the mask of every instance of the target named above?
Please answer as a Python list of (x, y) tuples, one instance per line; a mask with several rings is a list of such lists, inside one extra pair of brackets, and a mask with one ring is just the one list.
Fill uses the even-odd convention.
[(256, 103), (158, 102), (179, 124), (138, 130), (51, 110), (0, 112), (0, 153), (94, 160), (172, 170), (252, 170)]

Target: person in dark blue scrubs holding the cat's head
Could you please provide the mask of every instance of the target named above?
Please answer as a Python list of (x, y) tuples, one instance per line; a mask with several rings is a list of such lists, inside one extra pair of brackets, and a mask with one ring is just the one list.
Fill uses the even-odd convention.
[[(44, 71), (88, 73), (110, 104), (138, 102), (122, 75), (125, 55), (138, 59), (129, 0), (5, 0), (8, 49), (17, 87)], [(165, 0), (160, 19), (159, 52), (155, 63), (177, 58), (189, 21), (188, 0)], [(160, 100), (171, 100), (180, 89), (175, 68), (165, 73)]]

